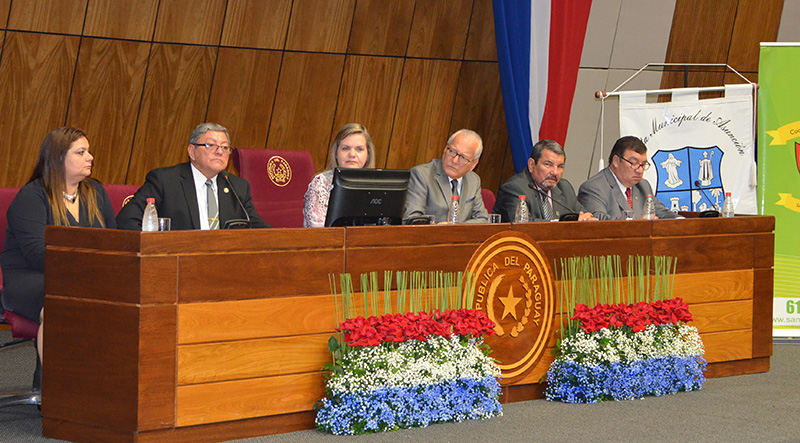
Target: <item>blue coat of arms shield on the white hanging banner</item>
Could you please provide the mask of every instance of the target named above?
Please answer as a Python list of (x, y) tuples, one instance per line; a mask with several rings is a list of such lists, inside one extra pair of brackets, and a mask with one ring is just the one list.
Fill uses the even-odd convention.
[(651, 158), (658, 176), (656, 197), (673, 212), (719, 210), (725, 200), (723, 155), (718, 146), (657, 151)]

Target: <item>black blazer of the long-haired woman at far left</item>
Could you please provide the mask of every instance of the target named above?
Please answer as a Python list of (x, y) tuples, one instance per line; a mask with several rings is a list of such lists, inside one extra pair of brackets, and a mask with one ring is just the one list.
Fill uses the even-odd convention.
[[(97, 207), (106, 228), (114, 229), (114, 209), (103, 185), (87, 178), (94, 188)], [(70, 226), (100, 228), (99, 220), (89, 223), (89, 213), (83, 201), (78, 204), (80, 221), (76, 221), (67, 211)], [(42, 179), (38, 178), (23, 186), (6, 213), (8, 227), (0, 264), (3, 267), (2, 305), (29, 320), (39, 323), (39, 311), (44, 306), (44, 229), (53, 224), (50, 201), (44, 190)], [(84, 275), (83, 278), (92, 278)]]

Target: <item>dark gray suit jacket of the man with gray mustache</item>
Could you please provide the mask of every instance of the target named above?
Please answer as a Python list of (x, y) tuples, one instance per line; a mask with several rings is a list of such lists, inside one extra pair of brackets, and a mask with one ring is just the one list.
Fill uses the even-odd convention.
[[(529, 185), (531, 184), (533, 184), (533, 178), (527, 169), (523, 169), (521, 172), (508, 179), (508, 181), (503, 183), (503, 186), (500, 186), (500, 190), (497, 193), (497, 201), (494, 204), (492, 212), (500, 214), (503, 222), (513, 221), (514, 215), (517, 212), (519, 196), (524, 194), (525, 202), (528, 203), (528, 210), (531, 213), (531, 220), (549, 221), (544, 218), (542, 198), (538, 192), (530, 188)], [(581, 211), (586, 211), (578, 202), (578, 199), (575, 198), (575, 189), (572, 187), (572, 184), (565, 178), (558, 181), (550, 191), (550, 194), (554, 201), (570, 209), (570, 211), (567, 211), (566, 208), (558, 203), (551, 203), (553, 214), (555, 214), (556, 217), (560, 217), (561, 214), (567, 212), (578, 214)]]

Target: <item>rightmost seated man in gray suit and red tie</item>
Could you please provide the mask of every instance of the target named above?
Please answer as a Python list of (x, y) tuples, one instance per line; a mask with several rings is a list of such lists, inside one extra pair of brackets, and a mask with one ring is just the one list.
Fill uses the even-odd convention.
[[(649, 167), (647, 146), (634, 136), (622, 137), (611, 149), (608, 166), (581, 185), (578, 201), (600, 220), (624, 220), (625, 209), (633, 209), (634, 219), (642, 218), (645, 200), (653, 195), (650, 183), (642, 179)], [(654, 200), (658, 218), (678, 216)]]

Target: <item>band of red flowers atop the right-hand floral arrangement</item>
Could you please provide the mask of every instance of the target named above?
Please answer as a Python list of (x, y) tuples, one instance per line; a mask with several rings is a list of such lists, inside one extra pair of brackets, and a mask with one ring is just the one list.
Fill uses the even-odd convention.
[(575, 316), (581, 328), (588, 332), (596, 332), (609, 326), (629, 326), (633, 332), (642, 332), (648, 325), (678, 324), (689, 322), (692, 314), (683, 299), (658, 300), (653, 303), (636, 304), (619, 303), (616, 305), (598, 304), (594, 308), (579, 303), (575, 306)]

